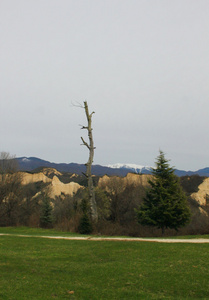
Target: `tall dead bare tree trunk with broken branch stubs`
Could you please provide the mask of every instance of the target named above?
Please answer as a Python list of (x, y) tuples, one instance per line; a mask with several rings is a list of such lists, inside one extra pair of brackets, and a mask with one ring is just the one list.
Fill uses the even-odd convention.
[(81, 140), (83, 142), (83, 145), (85, 145), (89, 149), (89, 160), (85, 164), (86, 165), (86, 177), (88, 179), (88, 190), (89, 190), (89, 202), (90, 202), (90, 208), (91, 208), (91, 217), (93, 221), (98, 220), (98, 212), (97, 212), (97, 205), (95, 200), (95, 191), (94, 191), (94, 185), (92, 180), (92, 174), (91, 174), (91, 166), (93, 163), (94, 158), (94, 141), (93, 141), (93, 135), (92, 135), (92, 127), (91, 127), (91, 118), (94, 112), (89, 114), (88, 104), (86, 101), (84, 101), (84, 109), (86, 113), (86, 118), (88, 121), (88, 126), (83, 126), (82, 129), (88, 130), (88, 137), (89, 137), (89, 144), (85, 142), (85, 140), (81, 137)]

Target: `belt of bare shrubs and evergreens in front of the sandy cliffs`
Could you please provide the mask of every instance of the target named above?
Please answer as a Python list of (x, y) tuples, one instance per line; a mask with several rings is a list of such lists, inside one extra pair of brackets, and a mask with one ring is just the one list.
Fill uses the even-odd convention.
[[(200, 214), (189, 194), (201, 177), (174, 175), (161, 152), (149, 186), (127, 184), (112, 177), (95, 186), (98, 220), (91, 217), (87, 183), (73, 196), (51, 199), (50, 185), (36, 182), (23, 186), (16, 161), (8, 153), (0, 156), (0, 226), (49, 227), (81, 233), (154, 236), (207, 233), (209, 220)], [(140, 175), (138, 175), (140, 176)], [(184, 191), (182, 189), (182, 184)], [(191, 219), (191, 222), (189, 223)], [(179, 230), (179, 232), (177, 232)]]

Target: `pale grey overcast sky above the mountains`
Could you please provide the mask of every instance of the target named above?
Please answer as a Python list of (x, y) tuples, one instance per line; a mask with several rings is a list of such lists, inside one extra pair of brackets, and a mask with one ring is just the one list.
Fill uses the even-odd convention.
[(0, 151), (209, 166), (208, 0), (1, 0)]

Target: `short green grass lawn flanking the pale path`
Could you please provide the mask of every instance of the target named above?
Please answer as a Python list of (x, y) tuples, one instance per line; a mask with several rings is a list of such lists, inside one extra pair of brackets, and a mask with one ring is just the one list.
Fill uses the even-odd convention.
[[(0, 233), (63, 235), (26, 228)], [(209, 299), (208, 278), (209, 244), (0, 236), (2, 300)]]

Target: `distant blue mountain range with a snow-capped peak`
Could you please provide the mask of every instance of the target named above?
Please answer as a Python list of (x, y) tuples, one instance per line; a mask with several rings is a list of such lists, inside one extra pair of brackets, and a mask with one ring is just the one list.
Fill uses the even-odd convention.
[[(42, 167), (55, 168), (60, 172), (69, 172), (82, 174), (86, 171), (85, 164), (77, 163), (52, 163), (37, 157), (18, 157), (16, 158), (19, 164), (19, 169), (21, 171), (34, 171)], [(152, 168), (147, 166), (135, 165), (135, 164), (113, 164), (107, 166), (93, 165), (92, 174), (97, 176), (103, 175), (117, 175), (117, 176), (126, 176), (128, 173), (139, 173), (139, 174), (150, 174)], [(200, 169), (197, 171), (184, 171), (184, 170), (175, 170), (177, 176), (185, 175), (195, 175), (209, 177), (209, 168)]]

